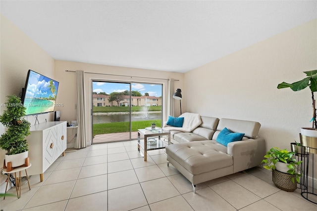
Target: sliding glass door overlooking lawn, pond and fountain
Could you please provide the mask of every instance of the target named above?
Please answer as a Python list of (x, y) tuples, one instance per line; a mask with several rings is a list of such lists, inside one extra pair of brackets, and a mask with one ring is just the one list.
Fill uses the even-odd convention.
[(93, 143), (137, 139), (139, 128), (161, 127), (162, 84), (92, 82)]

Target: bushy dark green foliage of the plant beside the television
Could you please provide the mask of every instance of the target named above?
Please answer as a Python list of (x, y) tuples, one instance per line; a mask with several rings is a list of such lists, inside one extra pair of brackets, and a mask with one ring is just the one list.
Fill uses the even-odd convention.
[(23, 118), (26, 108), (21, 99), (15, 95), (7, 98), (7, 102), (1, 104), (7, 109), (0, 115), (0, 123), (8, 129), (0, 137), (0, 148), (6, 150), (7, 155), (15, 155), (29, 150), (25, 137), (30, 134), (31, 124)]

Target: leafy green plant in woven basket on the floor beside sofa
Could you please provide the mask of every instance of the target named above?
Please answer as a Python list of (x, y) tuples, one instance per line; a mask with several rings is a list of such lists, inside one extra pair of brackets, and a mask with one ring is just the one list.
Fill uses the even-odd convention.
[(300, 183), (302, 174), (297, 171), (302, 161), (296, 161), (295, 152), (286, 149), (273, 147), (266, 152), (262, 163), (264, 168), (272, 170), (272, 180), (276, 187), (281, 190), (293, 192), (297, 188), (297, 182)]

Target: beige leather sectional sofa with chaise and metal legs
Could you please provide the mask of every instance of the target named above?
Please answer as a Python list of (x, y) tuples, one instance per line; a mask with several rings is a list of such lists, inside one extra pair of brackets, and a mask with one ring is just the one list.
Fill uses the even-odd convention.
[[(263, 138), (258, 137), (260, 123), (200, 118), (201, 125), (190, 132), (166, 123), (163, 127), (171, 132), (173, 143), (166, 147), (168, 164), (171, 163), (193, 184), (194, 192), (196, 184), (261, 165), (265, 143)], [(216, 139), (225, 127), (245, 135), (241, 141), (222, 145)]]

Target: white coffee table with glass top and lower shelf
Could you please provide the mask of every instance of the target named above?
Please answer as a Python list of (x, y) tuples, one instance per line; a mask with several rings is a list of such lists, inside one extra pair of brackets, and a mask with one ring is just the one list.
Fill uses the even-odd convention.
[[(144, 135), (143, 140), (141, 140), (141, 134)], [(160, 139), (160, 137), (163, 135), (168, 136), (167, 143)], [(138, 129), (138, 151), (144, 157), (144, 161), (147, 161), (147, 151), (164, 149), (167, 145), (170, 145), (169, 131), (166, 131), (160, 127), (156, 127), (156, 129), (148, 129), (148, 127), (147, 129)]]

